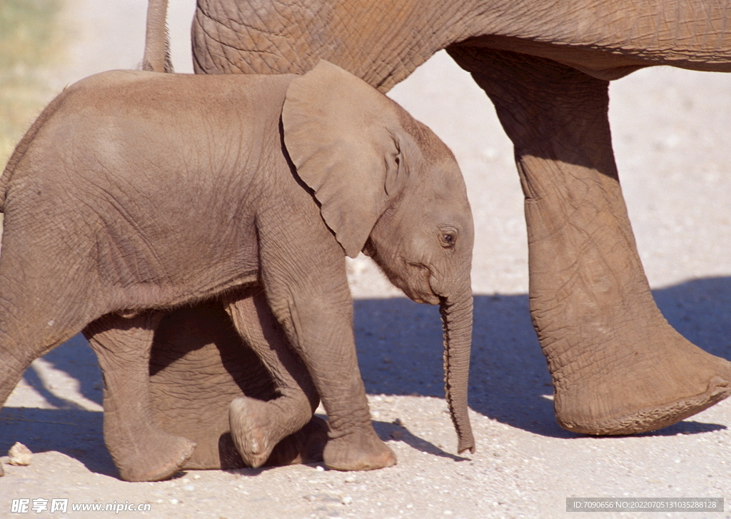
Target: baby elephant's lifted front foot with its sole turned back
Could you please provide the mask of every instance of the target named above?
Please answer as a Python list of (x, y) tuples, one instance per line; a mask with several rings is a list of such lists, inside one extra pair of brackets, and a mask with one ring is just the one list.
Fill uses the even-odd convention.
[(254, 467), (262, 466), (282, 433), (270, 420), (271, 406), (265, 401), (240, 396), (229, 406), (229, 425), (231, 436), (243, 462)]

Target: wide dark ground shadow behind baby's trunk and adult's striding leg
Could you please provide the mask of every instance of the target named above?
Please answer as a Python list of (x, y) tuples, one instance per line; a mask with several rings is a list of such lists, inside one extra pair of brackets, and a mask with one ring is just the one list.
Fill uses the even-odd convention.
[[(683, 336), (731, 360), (731, 277), (654, 290)], [(371, 394), (444, 398), (439, 310), (406, 298), (355, 301), (358, 360)], [(542, 436), (579, 437), (553, 415), (553, 385), (529, 316), (527, 295), (476, 295), (469, 382), (471, 409)], [(647, 435), (692, 434), (724, 425), (685, 420)]]

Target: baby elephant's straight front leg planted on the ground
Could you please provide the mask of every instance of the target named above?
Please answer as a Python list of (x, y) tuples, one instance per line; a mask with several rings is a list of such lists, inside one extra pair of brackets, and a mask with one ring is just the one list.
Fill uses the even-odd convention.
[(268, 305), (327, 412), (322, 458), (336, 470), (393, 466), (396, 456), (373, 428), (360, 378), (343, 249), (309, 195), (290, 195), (296, 202), (281, 212), (262, 212), (257, 221), (260, 275)]

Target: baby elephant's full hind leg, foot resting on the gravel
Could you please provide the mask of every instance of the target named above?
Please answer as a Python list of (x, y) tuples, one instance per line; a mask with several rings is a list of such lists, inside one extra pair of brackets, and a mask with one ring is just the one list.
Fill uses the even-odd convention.
[(132, 318), (108, 314), (84, 330), (104, 374), (104, 439), (123, 480), (166, 480), (190, 458), (195, 444), (153, 420), (150, 350), (159, 312)]

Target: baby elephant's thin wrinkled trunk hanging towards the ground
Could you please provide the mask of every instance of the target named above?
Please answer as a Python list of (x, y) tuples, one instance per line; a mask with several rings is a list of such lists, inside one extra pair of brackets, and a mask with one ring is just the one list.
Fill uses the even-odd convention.
[(472, 293), (463, 289), (441, 298), (439, 313), (444, 328), (444, 390), (458, 437), (458, 452), (474, 452), (474, 437), (467, 414), (467, 382), (472, 342)]

